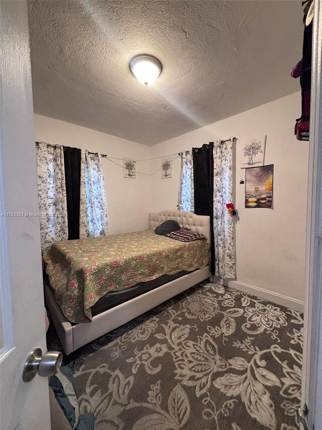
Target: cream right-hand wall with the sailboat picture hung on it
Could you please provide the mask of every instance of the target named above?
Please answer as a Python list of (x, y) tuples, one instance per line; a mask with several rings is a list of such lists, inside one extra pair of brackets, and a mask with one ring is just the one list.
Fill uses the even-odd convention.
[[(293, 135), (300, 109), (298, 92), (155, 145), (151, 153), (157, 157), (216, 139), (237, 138), (234, 204), (239, 215), (235, 220), (238, 285), (230, 285), (295, 308), (301, 308), (297, 301), (304, 297), (308, 163), (308, 143), (297, 141)], [(274, 164), (273, 209), (245, 209), (245, 185), (239, 185), (240, 179), (245, 180), (245, 169), (239, 168), (239, 162), (245, 139), (252, 135), (267, 135), (265, 164)], [(174, 160), (169, 179), (160, 178), (159, 160), (153, 161), (151, 168), (151, 211), (175, 208), (180, 160)]]

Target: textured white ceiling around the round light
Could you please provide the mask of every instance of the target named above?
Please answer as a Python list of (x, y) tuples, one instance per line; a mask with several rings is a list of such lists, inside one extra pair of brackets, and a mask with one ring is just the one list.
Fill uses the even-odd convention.
[[(153, 145), (299, 90), (300, 1), (30, 1), (36, 113)], [(132, 56), (163, 63), (153, 86)]]

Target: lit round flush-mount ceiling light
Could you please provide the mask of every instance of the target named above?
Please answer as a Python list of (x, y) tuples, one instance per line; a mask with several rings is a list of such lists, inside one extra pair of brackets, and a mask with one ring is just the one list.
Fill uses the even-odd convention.
[(162, 64), (152, 55), (139, 54), (130, 60), (130, 71), (143, 85), (153, 84), (162, 72)]

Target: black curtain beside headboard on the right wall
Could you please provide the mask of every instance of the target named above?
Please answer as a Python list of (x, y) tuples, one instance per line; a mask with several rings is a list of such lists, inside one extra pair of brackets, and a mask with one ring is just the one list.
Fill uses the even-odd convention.
[(192, 148), (195, 214), (210, 216), (210, 271), (215, 273), (213, 233), (213, 142)]

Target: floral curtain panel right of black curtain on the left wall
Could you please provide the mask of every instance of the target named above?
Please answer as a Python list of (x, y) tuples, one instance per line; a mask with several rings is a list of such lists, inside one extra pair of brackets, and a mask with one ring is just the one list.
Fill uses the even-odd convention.
[(107, 234), (108, 216), (101, 154), (82, 151), (79, 238)]

